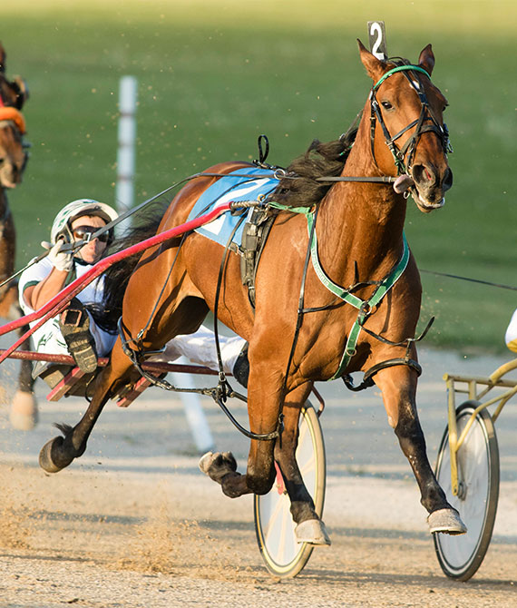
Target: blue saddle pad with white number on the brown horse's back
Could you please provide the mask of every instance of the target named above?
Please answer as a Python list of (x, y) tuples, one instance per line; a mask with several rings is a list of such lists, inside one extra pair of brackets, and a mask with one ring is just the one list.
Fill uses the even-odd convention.
[[(243, 177), (234, 177), (242, 175)], [(246, 176), (246, 177), (244, 177)], [(249, 177), (253, 176), (253, 177)], [(257, 176), (255, 178), (255, 176)], [(264, 176), (264, 177), (261, 177)], [(208, 190), (205, 190), (189, 214), (189, 220), (204, 215), (208, 211), (216, 209), (218, 205), (229, 201), (257, 201), (259, 196), (267, 196), (269, 192), (275, 190), (278, 180), (273, 177), (273, 173), (267, 169), (257, 167), (244, 167), (238, 171), (229, 173), (226, 177), (220, 178)], [(252, 209), (243, 211), (247, 214)], [(229, 237), (235, 226), (239, 222), (242, 214), (232, 215), (229, 211), (220, 215), (214, 221), (204, 224), (195, 231), (210, 240), (215, 240), (223, 247), (228, 244)], [(245, 221), (233, 236), (233, 242), (240, 245), (242, 240), (242, 230)]]

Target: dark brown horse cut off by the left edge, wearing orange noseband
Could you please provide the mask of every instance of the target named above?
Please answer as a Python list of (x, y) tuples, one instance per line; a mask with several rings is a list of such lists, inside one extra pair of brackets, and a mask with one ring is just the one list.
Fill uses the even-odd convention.
[[(5, 77), (5, 50), (0, 44), (0, 282), (15, 272), (15, 222), (6, 191), (21, 183), (27, 161), (25, 122), (20, 112), (27, 97), (27, 88), (20, 77), (12, 81)], [(0, 288), (0, 317), (17, 319), (21, 314), (18, 286), (16, 281), (10, 281)], [(28, 342), (24, 348), (29, 348)], [(37, 412), (31, 371), (31, 362), (22, 361), (18, 390), (11, 405), (11, 422), (22, 430), (34, 427)]]

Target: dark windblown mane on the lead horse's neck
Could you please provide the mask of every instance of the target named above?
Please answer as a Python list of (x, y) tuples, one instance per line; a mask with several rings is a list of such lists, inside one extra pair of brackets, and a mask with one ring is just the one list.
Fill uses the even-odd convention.
[(291, 162), (288, 175), (279, 181), (269, 199), (289, 207), (312, 207), (321, 201), (332, 183), (317, 178), (337, 177), (343, 172), (356, 134), (357, 129), (351, 128), (333, 142), (314, 140), (305, 154)]

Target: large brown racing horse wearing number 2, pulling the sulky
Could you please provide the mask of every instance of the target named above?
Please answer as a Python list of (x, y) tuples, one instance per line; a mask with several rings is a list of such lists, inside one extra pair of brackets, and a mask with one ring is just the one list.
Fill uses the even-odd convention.
[[(294, 457), (298, 414), (315, 381), (343, 371), (366, 371), (381, 389), (388, 422), (430, 514), (431, 531), (465, 531), (436, 482), (416, 413), (419, 366), (415, 341), (410, 338), (415, 337), (422, 289), (403, 234), (408, 194), (421, 211), (433, 211), (444, 204), (444, 192), (452, 185), (443, 123), (446, 101), (430, 80), (431, 45), (424, 48), (416, 66), (406, 61), (381, 62), (360, 42), (359, 51), (375, 84), (355, 142), (353, 136), (334, 142), (328, 147), (340, 152), (331, 162), (320, 162), (320, 174), (328, 175), (330, 167), (332, 175), (340, 177), (323, 184), (327, 192), (321, 200), (304, 202), (306, 189), (297, 185), (304, 182), (291, 172), (269, 197), (287, 205), (299, 205), (301, 199), (307, 212), (283, 208), (278, 212), (258, 266), (255, 309), (240, 279), (238, 255), (229, 254), (220, 284), (219, 318), (249, 341), (249, 427), (269, 439), (251, 440), (244, 475), (237, 472), (229, 453), (206, 455), (200, 463), (222, 485), (224, 494), (235, 497), (267, 493), (277, 460), (298, 524), (298, 539), (315, 544), (326, 543), (327, 534)], [(325, 149), (317, 146), (320, 152)], [(308, 156), (305, 163), (319, 166)], [(304, 162), (290, 169), (298, 166)], [(244, 162), (226, 162), (208, 172), (228, 174), (249, 167)], [(357, 176), (361, 181), (353, 181)], [(215, 181), (213, 176), (191, 180), (171, 202), (159, 232), (185, 222), (194, 203)], [(320, 196), (322, 182), (308, 181), (312, 189), (307, 191)], [(314, 243), (315, 239), (309, 239), (312, 229), (307, 228), (306, 217), (316, 226), (317, 252), (312, 257), (309, 240)], [(161, 348), (179, 333), (199, 328), (207, 311), (216, 307), (222, 258), (223, 248), (196, 232), (183, 242), (172, 240), (141, 256), (125, 292), (122, 314), (126, 336), (132, 337), (126, 348), (132, 349), (134, 358)], [(405, 260), (402, 267), (401, 260)], [(373, 296), (390, 282), (395, 268), (402, 274), (385, 298)], [(337, 297), (339, 289), (344, 297)], [(348, 302), (352, 296), (363, 302), (359, 311)], [(56, 472), (83, 454), (103, 405), (132, 378), (135, 369), (119, 339), (83, 419), (73, 428), (62, 427), (64, 436), (55, 437), (42, 449), (40, 464), (46, 471)]]

